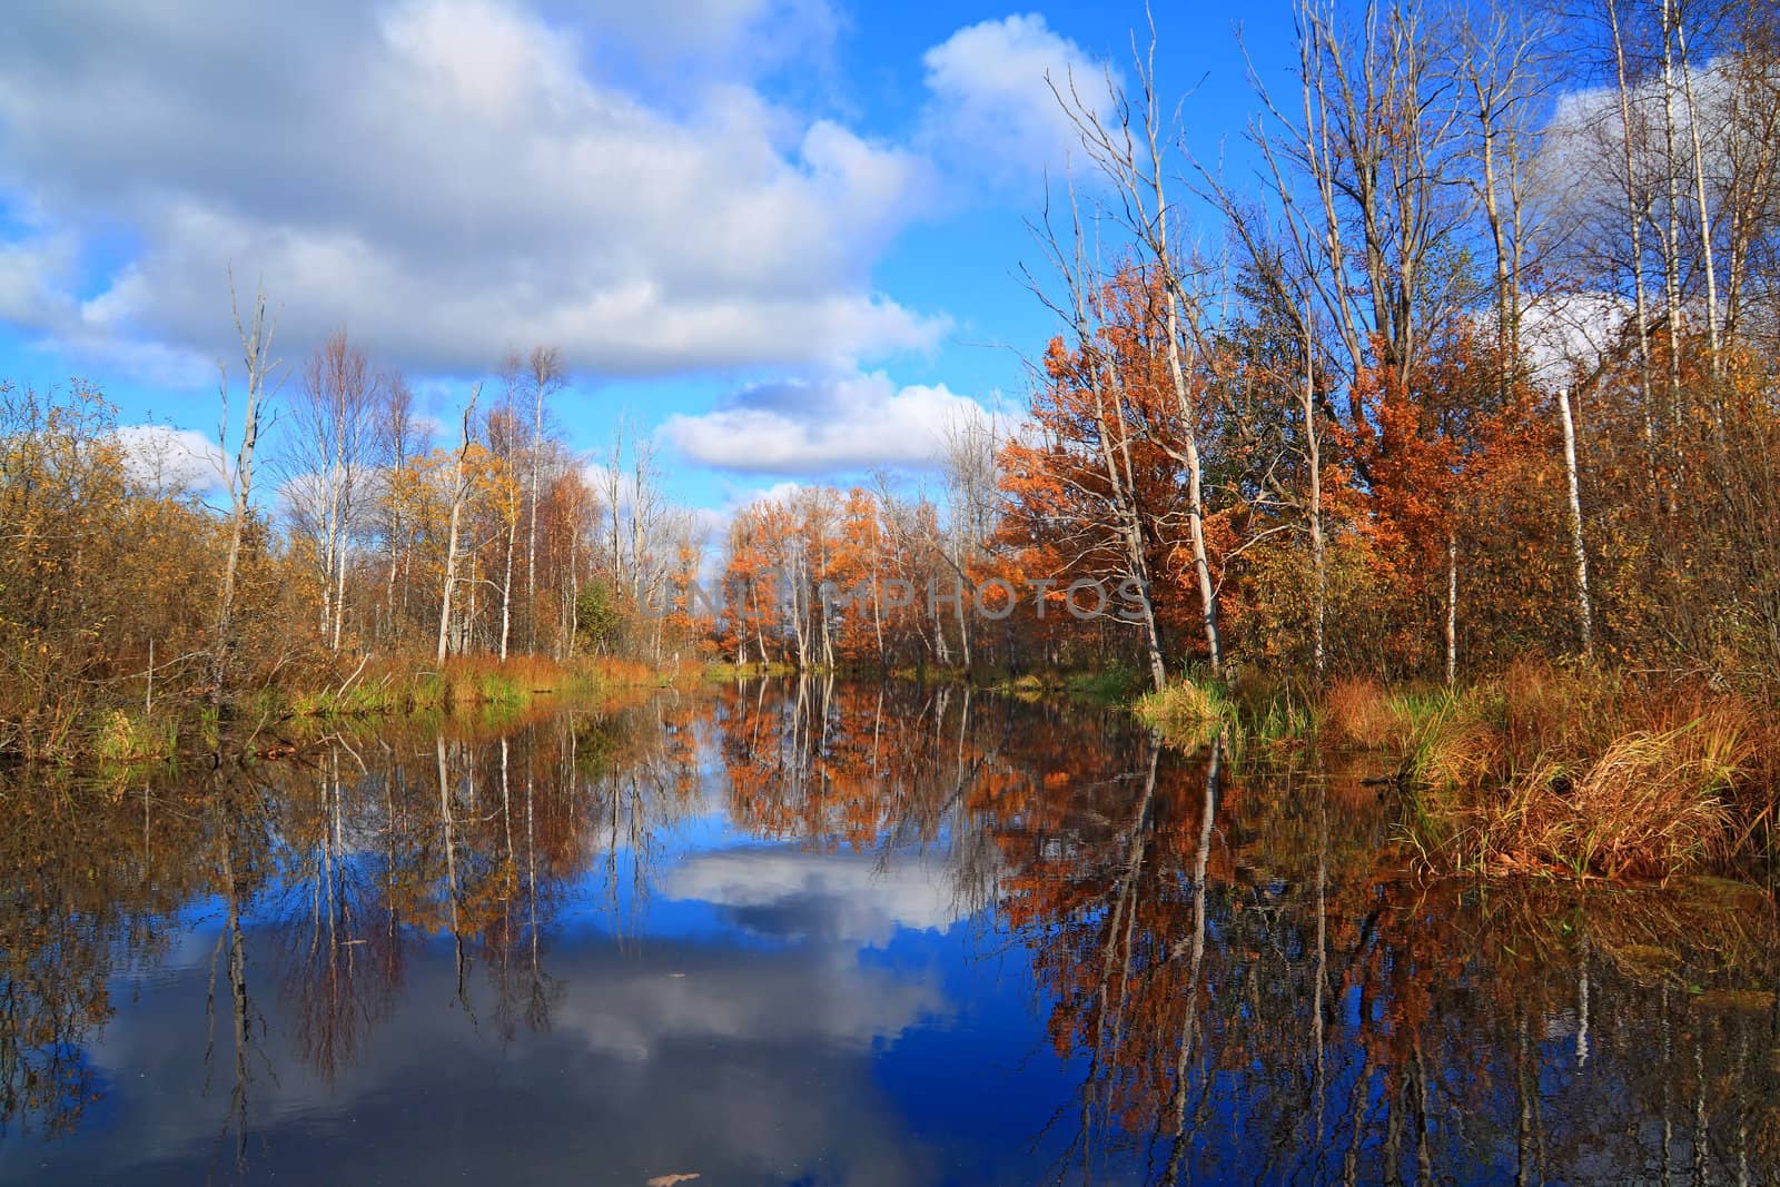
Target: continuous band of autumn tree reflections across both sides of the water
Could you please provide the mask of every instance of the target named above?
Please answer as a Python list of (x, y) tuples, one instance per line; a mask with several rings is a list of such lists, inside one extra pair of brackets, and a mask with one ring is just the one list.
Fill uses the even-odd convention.
[(1315, 762), (1182, 756), (1118, 714), (831, 680), (28, 797), (0, 836), (20, 870), (0, 892), (0, 1121), (80, 1123), (112, 986), (206, 899), (206, 1066), (237, 1159), (276, 1078), (269, 1038), (324, 1078), (347, 1068), (417, 943), (449, 945), (473, 1025), (546, 1029), (554, 924), (603, 908), (632, 931), (675, 829), (710, 806), (701, 755), (742, 831), (936, 852), (961, 909), (1024, 949), (1080, 1075), (1050, 1134), (1068, 1178), (1780, 1171), (1764, 897), (1420, 884), (1388, 804)]

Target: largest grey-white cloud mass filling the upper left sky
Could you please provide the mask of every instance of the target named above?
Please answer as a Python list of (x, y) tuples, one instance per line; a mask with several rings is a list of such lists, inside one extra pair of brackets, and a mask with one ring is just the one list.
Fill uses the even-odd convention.
[[(774, 11), (703, 7), (732, 11), (719, 30)], [(263, 276), (285, 342), (344, 320), (436, 372), (536, 340), (605, 374), (828, 365), (940, 329), (870, 287), (920, 157), (735, 78), (655, 103), (500, 0), (11, 25), (0, 199), (41, 219), (0, 242), (0, 315), (55, 340), (226, 352), (230, 265)], [(100, 271), (78, 301), (44, 292), (71, 237)]]

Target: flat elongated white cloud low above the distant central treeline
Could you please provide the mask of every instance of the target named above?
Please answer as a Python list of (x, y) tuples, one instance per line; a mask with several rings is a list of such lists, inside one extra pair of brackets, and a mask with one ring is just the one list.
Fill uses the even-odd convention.
[(708, 413), (669, 416), (662, 438), (692, 461), (742, 473), (926, 466), (949, 427), (988, 415), (943, 383), (899, 388), (872, 372), (742, 388)]

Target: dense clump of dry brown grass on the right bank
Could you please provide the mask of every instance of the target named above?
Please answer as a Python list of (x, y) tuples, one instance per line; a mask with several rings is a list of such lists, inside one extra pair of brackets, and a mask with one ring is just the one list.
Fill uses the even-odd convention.
[(1734, 694), (1520, 660), (1388, 705), (1436, 867), (1663, 879), (1771, 849), (1780, 735)]

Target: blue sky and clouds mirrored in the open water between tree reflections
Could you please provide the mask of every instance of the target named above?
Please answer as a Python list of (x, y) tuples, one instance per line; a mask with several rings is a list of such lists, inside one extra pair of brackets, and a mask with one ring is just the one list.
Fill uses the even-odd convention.
[[(627, 886), (632, 854), (619, 858)], [(943, 860), (762, 845), (707, 819), (684, 822), (651, 874), (648, 900), (616, 916), (603, 874), (575, 888), (546, 940), (548, 1032), (498, 1036), (484, 966), (468, 977), (472, 1021), (449, 940), (415, 943), (395, 1009), (331, 1084), (294, 1050), (278, 941), (249, 920), (267, 1030), (251, 1061), (249, 1176), (892, 1185), (1041, 1173), (1045, 1155), (1025, 1144), (1068, 1093), (1063, 1070), (1045, 1055), (1048, 1077), (1022, 1078), (1043, 1054), (1031, 973), (975, 952)], [(73, 1141), (0, 1143), (0, 1178), (233, 1178), (233, 1137), (219, 1139), (235, 1084), (221, 977), (205, 1086), (219, 908), (169, 922), (169, 959), (114, 984), (117, 1014), (89, 1050), (105, 1102)], [(523, 1016), (523, 950), (518, 961), (507, 977)]]

